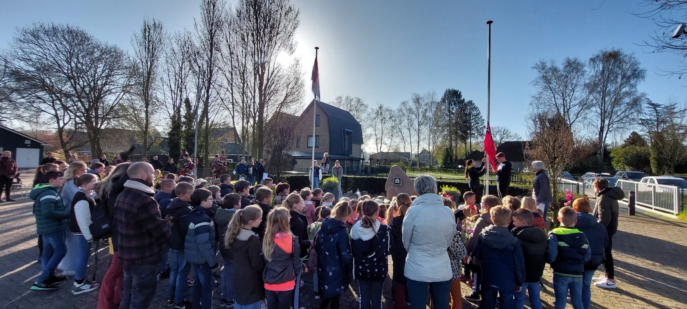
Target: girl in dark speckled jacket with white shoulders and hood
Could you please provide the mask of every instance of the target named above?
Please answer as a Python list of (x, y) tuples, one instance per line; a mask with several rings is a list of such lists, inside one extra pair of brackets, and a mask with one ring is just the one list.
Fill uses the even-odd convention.
[(389, 227), (379, 222), (379, 205), (364, 201), (363, 217), (350, 229), (353, 279), (360, 285), (360, 308), (382, 308), (382, 286), (387, 277), (387, 257), (391, 254)]

